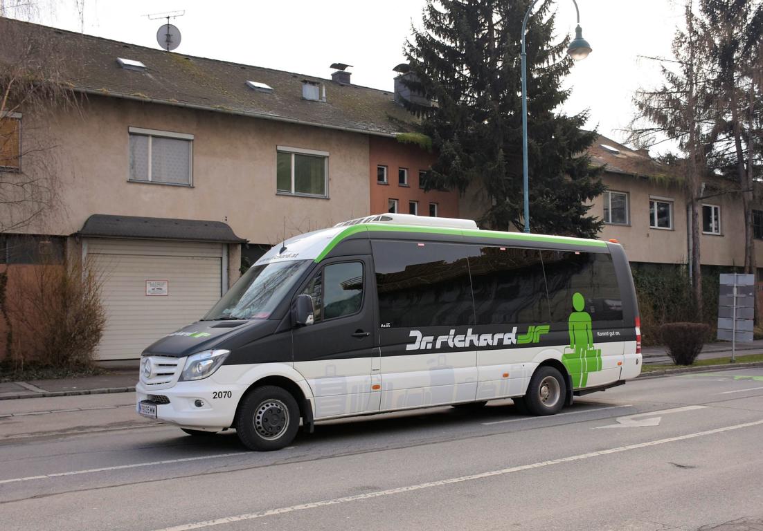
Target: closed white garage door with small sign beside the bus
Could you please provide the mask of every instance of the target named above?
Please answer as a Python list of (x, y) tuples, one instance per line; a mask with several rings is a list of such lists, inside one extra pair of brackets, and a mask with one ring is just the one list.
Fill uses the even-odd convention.
[(107, 314), (96, 359), (136, 359), (160, 337), (198, 321), (220, 299), (225, 247), (85, 240), (85, 253), (101, 274)]

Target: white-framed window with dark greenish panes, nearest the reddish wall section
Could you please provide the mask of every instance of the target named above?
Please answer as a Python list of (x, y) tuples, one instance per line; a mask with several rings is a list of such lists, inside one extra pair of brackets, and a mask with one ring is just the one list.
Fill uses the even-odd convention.
[(278, 146), (276, 156), (278, 194), (328, 197), (327, 152)]

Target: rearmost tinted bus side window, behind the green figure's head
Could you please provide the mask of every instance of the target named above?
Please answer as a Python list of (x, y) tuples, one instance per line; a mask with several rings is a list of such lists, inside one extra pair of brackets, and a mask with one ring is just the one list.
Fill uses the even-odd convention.
[(585, 299), (585, 312), (594, 321), (621, 321), (623, 302), (609, 254), (542, 251), (553, 322), (568, 321), (572, 296)]

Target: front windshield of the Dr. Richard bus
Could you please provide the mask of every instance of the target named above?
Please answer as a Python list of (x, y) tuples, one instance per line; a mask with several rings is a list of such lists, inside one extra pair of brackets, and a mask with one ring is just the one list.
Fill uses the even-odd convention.
[(310, 262), (288, 261), (250, 267), (202, 321), (269, 318)]

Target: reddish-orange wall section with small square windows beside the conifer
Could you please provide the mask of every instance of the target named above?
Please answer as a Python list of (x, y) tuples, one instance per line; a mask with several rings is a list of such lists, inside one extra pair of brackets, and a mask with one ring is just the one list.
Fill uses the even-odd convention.
[[(380, 136), (369, 137), (369, 175), (371, 186), (371, 213), (388, 211), (388, 200), (398, 200), (398, 212), (408, 213), (408, 202), (418, 201), (419, 215), (429, 216), (429, 203), (437, 203), (437, 216), (459, 217), (459, 196), (456, 192), (425, 192), (419, 187), (419, 171), (427, 171), (435, 161), (435, 155), (418, 146), (402, 144), (395, 139)], [(387, 166), (388, 184), (378, 184), (376, 168)], [(398, 184), (398, 169), (407, 168), (408, 186)]]

